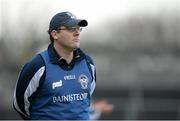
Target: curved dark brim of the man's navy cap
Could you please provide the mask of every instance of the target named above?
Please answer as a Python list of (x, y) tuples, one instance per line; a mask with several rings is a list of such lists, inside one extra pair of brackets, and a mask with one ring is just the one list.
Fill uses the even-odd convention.
[(64, 24), (64, 26), (68, 26), (68, 27), (73, 27), (77, 25), (81, 27), (86, 27), (88, 25), (88, 22), (86, 20), (71, 19)]

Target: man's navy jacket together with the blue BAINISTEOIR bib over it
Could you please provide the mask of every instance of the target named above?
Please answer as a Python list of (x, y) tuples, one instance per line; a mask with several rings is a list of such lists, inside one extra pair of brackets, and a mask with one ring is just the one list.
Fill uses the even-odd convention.
[(21, 70), (13, 106), (23, 119), (89, 119), (95, 81), (94, 63), (82, 50), (67, 64), (50, 44)]

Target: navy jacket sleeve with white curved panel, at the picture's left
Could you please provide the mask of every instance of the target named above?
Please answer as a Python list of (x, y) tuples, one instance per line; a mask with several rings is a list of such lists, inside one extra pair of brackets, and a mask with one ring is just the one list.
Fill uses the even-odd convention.
[(13, 107), (23, 119), (30, 119), (31, 98), (45, 79), (45, 64), (41, 55), (24, 65), (16, 82)]

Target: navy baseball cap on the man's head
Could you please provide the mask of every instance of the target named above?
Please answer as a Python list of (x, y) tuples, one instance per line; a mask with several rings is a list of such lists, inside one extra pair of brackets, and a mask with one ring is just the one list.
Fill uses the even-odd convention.
[(68, 11), (57, 13), (52, 17), (49, 23), (48, 33), (51, 33), (52, 30), (55, 30), (60, 26), (73, 27), (77, 25), (85, 27), (88, 25), (88, 22), (84, 19), (77, 19), (75, 15)]

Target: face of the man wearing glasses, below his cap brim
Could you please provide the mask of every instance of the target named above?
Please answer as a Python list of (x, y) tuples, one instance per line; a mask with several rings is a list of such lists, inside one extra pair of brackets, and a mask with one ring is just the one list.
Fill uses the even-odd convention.
[(70, 51), (77, 49), (80, 46), (80, 31), (81, 28), (79, 26), (60, 27), (56, 30), (54, 43)]

